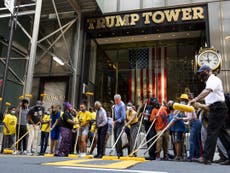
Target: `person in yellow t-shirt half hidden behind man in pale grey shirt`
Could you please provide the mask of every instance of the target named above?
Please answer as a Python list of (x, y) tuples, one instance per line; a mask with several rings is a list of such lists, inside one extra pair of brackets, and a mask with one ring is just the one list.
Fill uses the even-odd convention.
[[(90, 148), (89, 154), (93, 153), (93, 150), (95, 149), (96, 145), (97, 145), (97, 135), (95, 133), (97, 133), (96, 129), (96, 112), (95, 109), (93, 107), (89, 108), (89, 112), (91, 114), (91, 120), (90, 120), (90, 126), (89, 126), (89, 140), (90, 140), (90, 146), (92, 145), (92, 147)], [(94, 138), (94, 135), (95, 138)], [(94, 141), (93, 141), (94, 138)], [(93, 142), (93, 144), (92, 144)]]

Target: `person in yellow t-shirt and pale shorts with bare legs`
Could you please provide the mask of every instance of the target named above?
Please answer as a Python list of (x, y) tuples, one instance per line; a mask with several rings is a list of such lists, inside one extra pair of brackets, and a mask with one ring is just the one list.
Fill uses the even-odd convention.
[(81, 152), (81, 156), (84, 157), (86, 155), (89, 122), (91, 120), (91, 114), (89, 111), (86, 110), (86, 105), (84, 103), (80, 104), (80, 112), (77, 114), (77, 118), (80, 124), (78, 140), (80, 147), (79, 149)]

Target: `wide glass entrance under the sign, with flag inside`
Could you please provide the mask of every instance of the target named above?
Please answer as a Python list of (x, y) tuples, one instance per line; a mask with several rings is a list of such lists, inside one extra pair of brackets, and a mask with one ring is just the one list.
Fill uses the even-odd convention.
[(115, 93), (140, 105), (157, 97), (175, 99), (186, 88), (196, 92), (193, 72), (199, 38), (140, 44), (103, 45), (97, 54), (96, 99), (111, 103)]

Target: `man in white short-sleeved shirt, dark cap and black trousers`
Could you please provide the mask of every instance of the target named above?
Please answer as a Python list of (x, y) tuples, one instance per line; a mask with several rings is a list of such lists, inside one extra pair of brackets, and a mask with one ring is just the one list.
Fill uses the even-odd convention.
[[(189, 103), (193, 104), (204, 99), (205, 104), (208, 105), (210, 109), (204, 153), (203, 156), (198, 159), (200, 163), (210, 164), (215, 153), (217, 137), (219, 137), (221, 141), (229, 141), (229, 135), (226, 134), (224, 130), (227, 107), (225, 104), (222, 81), (212, 74), (212, 69), (207, 65), (203, 65), (198, 70), (198, 73), (200, 73), (202, 79), (206, 81), (206, 87)], [(230, 144), (228, 143), (224, 147), (227, 150), (228, 158), (230, 158)], [(229, 160), (226, 161), (227, 164), (229, 164), (229, 162)]]

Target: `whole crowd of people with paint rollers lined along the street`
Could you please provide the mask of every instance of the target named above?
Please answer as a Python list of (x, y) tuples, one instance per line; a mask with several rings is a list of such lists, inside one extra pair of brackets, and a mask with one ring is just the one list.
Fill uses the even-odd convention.
[[(38, 151), (38, 134), (41, 134), (39, 155), (48, 152), (50, 141), (49, 152), (55, 156), (78, 153), (84, 157), (92, 154), (97, 146), (94, 157), (102, 158), (113, 131), (117, 156), (124, 156), (123, 150), (128, 148), (128, 154), (135, 157), (144, 143), (140, 141), (143, 125), (148, 160), (209, 164), (213, 161), (217, 143), (220, 159), (215, 162), (229, 165), (230, 138), (227, 131), (229, 127), (226, 126), (229, 110), (227, 112), (222, 84), (209, 67), (202, 68), (200, 73), (204, 73), (206, 88), (195, 98), (191, 93), (183, 93), (179, 98), (182, 105), (192, 104), (196, 108), (193, 112), (175, 110), (173, 100), (161, 104), (157, 98), (148, 99), (137, 109), (131, 102), (125, 104), (119, 94), (114, 96), (114, 105), (110, 111), (106, 111), (99, 101), (89, 110), (85, 103), (81, 103), (77, 110), (71, 103), (65, 102), (63, 111), (60, 105), (53, 105), (45, 111), (41, 101), (29, 107), (29, 101), (23, 99), (17, 108), (12, 107), (4, 116), (2, 148), (13, 148), (19, 154), (31, 155)], [(208, 106), (196, 104), (204, 98)], [(122, 142), (123, 133), (127, 136), (126, 145)], [(184, 145), (186, 133), (190, 134), (188, 156), (188, 148)], [(173, 154), (169, 153), (169, 140), (173, 144)]]

